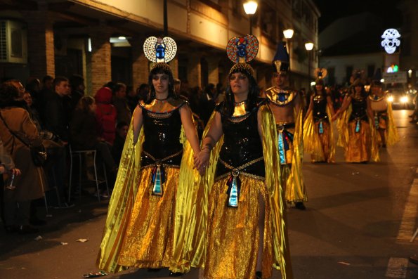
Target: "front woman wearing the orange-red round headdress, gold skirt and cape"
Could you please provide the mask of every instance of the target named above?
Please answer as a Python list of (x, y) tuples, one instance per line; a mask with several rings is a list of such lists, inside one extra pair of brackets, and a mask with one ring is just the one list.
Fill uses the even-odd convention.
[[(233, 37), (228, 58), (226, 100), (216, 105), (202, 141), (200, 159), (208, 166), (207, 252), (204, 277), (269, 278), (273, 266), (293, 278), (287, 241), (285, 199), (280, 186), (274, 119), (254, 71), (258, 40)], [(201, 169), (201, 165), (197, 166)]]

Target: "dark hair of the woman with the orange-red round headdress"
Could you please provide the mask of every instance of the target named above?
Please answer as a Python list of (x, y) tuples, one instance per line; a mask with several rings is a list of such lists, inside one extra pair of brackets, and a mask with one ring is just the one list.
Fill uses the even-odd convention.
[(223, 102), (223, 108), (222, 108), (223, 113), (227, 116), (232, 116), (234, 113), (235, 99), (230, 89), (229, 78), (232, 74), (235, 74), (236, 72), (245, 74), (245, 76), (248, 78), (248, 81), (249, 81), (246, 109), (248, 111), (251, 111), (253, 108), (256, 107), (258, 103), (257, 98), (259, 97), (259, 86), (257, 85), (256, 79), (254, 79), (254, 77), (245, 70), (240, 70), (240, 69), (234, 70), (230, 72), (228, 76), (228, 87), (226, 89), (225, 101)]

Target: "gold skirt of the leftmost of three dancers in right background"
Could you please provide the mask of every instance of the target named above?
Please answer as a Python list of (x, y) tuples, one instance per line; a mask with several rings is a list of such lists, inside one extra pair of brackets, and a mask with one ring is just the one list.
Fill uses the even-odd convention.
[(329, 127), (329, 122), (322, 122), (322, 134), (319, 132), (319, 122), (315, 122), (314, 132), (318, 134), (320, 144), (313, 144), (316, 148), (321, 148), (321, 150), (314, 150), (311, 154), (311, 162), (335, 162), (334, 154), (331, 151), (331, 144), (334, 140), (331, 138), (331, 132)]

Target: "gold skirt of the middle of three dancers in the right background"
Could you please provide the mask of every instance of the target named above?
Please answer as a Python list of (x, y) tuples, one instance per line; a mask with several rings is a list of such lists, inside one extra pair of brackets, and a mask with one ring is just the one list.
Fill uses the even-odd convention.
[(348, 143), (346, 162), (368, 162), (372, 153), (372, 141), (369, 122), (360, 121), (360, 131), (355, 132), (357, 121), (348, 122)]

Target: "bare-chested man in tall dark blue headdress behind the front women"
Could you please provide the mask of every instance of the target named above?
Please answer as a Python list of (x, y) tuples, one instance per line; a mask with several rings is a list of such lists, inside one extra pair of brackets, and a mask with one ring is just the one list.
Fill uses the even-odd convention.
[(286, 189), (287, 202), (297, 209), (306, 209), (308, 200), (302, 176), (303, 139), (302, 108), (300, 94), (287, 86), (289, 53), (285, 42), (277, 45), (273, 59), (272, 86), (266, 90), (268, 106), (273, 112), (280, 155), (280, 170)]

